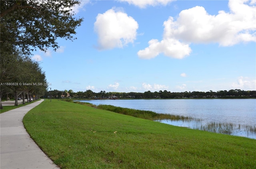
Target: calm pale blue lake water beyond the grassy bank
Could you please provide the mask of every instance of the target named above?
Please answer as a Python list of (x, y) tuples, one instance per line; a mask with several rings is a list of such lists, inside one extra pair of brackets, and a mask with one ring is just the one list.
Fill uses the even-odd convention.
[(243, 126), (256, 126), (256, 99), (138, 99), (138, 100), (82, 100), (95, 105), (106, 104), (156, 113), (189, 116), (196, 121), (161, 122), (188, 128), (198, 128), (210, 122), (232, 123), (236, 127), (232, 135), (256, 139), (256, 133), (249, 133)]

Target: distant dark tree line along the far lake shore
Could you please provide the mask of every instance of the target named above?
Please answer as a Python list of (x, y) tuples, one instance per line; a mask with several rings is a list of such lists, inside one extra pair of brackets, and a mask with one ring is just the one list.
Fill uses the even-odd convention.
[[(50, 96), (50, 91), (45, 97)], [(256, 98), (256, 91), (235, 90), (219, 90), (213, 92), (170, 92), (160, 90), (159, 92), (93, 92), (92, 90), (73, 92), (73, 90), (52, 90), (52, 98), (94, 98), (94, 99), (116, 99), (116, 98)]]

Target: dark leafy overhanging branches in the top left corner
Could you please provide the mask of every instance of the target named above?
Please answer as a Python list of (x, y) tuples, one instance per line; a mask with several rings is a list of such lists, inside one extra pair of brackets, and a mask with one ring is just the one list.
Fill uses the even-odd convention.
[(36, 47), (56, 50), (58, 37), (76, 39), (73, 34), (83, 20), (72, 12), (78, 4), (78, 0), (1, 0), (1, 46), (10, 43), (26, 54)]

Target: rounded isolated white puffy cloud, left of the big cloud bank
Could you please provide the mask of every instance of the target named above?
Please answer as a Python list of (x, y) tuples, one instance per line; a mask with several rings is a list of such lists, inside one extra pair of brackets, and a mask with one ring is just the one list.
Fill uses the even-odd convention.
[(98, 34), (99, 49), (122, 48), (136, 39), (138, 23), (126, 13), (110, 9), (98, 14), (94, 31)]

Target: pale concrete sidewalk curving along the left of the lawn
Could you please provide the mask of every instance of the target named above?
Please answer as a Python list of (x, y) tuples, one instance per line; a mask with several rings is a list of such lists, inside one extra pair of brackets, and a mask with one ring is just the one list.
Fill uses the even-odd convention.
[(58, 169), (26, 132), (24, 115), (44, 100), (0, 114), (1, 169)]

